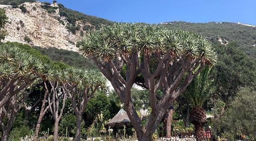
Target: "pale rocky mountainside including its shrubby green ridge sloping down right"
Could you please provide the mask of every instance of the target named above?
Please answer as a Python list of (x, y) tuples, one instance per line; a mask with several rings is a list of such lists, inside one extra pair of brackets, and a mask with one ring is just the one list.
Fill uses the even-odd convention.
[[(0, 3), (5, 4), (5, 3)], [(9, 3), (8, 3), (9, 4)], [(102, 18), (66, 9), (62, 4), (25, 2), (18, 6), (4, 6), (9, 22), (4, 42), (28, 43), (39, 47), (57, 47), (77, 51), (75, 43), (87, 30), (110, 24)]]

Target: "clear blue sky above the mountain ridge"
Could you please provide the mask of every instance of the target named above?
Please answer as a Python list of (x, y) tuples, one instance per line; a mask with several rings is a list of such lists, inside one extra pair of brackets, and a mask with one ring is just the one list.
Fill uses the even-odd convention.
[[(51, 1), (51, 0), (47, 0)], [(229, 21), (256, 25), (256, 0), (57, 0), (110, 21)]]

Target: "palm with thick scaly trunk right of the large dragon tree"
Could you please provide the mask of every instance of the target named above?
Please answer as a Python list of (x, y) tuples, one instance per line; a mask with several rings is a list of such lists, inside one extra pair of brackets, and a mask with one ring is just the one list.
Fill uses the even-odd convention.
[(193, 79), (185, 92), (186, 97), (192, 104), (190, 111), (190, 122), (195, 126), (195, 137), (197, 141), (204, 141), (203, 125), (207, 122), (206, 112), (203, 104), (214, 92), (213, 79), (210, 78), (211, 68), (207, 66), (197, 77)]

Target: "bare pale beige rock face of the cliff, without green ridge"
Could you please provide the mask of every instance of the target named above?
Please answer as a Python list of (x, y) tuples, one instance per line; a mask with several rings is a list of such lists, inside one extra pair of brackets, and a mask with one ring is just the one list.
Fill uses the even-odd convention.
[[(75, 43), (82, 37), (79, 31), (72, 34), (67, 30), (68, 22), (65, 17), (56, 13), (48, 13), (41, 7), (41, 3), (24, 3), (27, 12), (19, 8), (5, 7), (9, 23), (5, 29), (8, 31), (4, 42), (28, 43), (39, 47), (57, 47), (77, 51)], [(65, 26), (60, 23), (63, 21)]]

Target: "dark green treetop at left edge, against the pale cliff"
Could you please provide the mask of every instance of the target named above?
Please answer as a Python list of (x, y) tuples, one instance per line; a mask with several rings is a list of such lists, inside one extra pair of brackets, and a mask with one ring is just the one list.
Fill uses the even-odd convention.
[(4, 30), (4, 26), (7, 22), (8, 22), (8, 17), (5, 15), (5, 10), (0, 9), (0, 42), (7, 35), (7, 31)]

